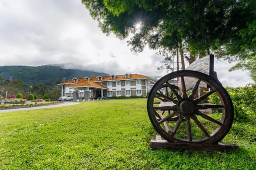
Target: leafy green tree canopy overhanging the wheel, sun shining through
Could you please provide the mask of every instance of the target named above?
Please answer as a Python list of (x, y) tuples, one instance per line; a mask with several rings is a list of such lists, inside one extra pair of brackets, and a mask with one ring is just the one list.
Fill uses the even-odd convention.
[(183, 48), (204, 56), (247, 57), (256, 52), (256, 1), (82, 0), (101, 30), (141, 52)]

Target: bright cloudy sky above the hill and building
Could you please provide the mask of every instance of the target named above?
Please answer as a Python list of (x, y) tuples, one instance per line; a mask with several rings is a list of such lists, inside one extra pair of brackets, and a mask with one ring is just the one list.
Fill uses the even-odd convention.
[[(0, 0), (0, 65), (63, 64), (108, 74), (162, 77), (162, 56), (131, 52), (126, 40), (106, 36), (79, 0)], [(234, 63), (215, 60), (223, 86), (252, 82), (249, 73), (228, 72)]]

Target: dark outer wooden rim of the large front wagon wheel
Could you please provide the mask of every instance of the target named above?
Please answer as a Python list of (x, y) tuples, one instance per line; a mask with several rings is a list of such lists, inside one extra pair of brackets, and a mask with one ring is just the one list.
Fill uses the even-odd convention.
[[(221, 100), (221, 103), (223, 105), (223, 111), (222, 111), (221, 121), (220, 121), (221, 125), (218, 125), (218, 127), (214, 131), (212, 131), (209, 134), (209, 136), (207, 136), (207, 137), (204, 137), (204, 138), (201, 138), (201, 139), (192, 139), (193, 134), (189, 135), (189, 133), (188, 133), (188, 135), (190, 137), (188, 137), (188, 139), (175, 137), (175, 135), (172, 135), (172, 134), (168, 133), (166, 130), (164, 130), (162, 128), (161, 124), (158, 123), (159, 120), (157, 120), (157, 116), (156, 116), (157, 113), (156, 113), (156, 110), (154, 108), (154, 99), (156, 97), (157, 91), (163, 87), (164, 83), (169, 82), (170, 80), (173, 80), (175, 78), (180, 78), (180, 77), (192, 77), (192, 78), (195, 78), (195, 79), (198, 79), (198, 80), (201, 80), (201, 81), (205, 82), (212, 89), (215, 90), (215, 92), (217, 93), (217, 95), (219, 96), (219, 98)], [(182, 103), (181, 100), (184, 100), (184, 99), (187, 99), (186, 96), (185, 96), (185, 98), (183, 96), (179, 100), (180, 103)], [(189, 104), (189, 102), (190, 101), (183, 101), (183, 103), (185, 103), (185, 104), (186, 103)], [(178, 104), (176, 104), (176, 106), (177, 105)], [(190, 104), (190, 105), (192, 106), (192, 104)], [(209, 75), (201, 73), (201, 72), (197, 72), (197, 71), (190, 71), (190, 70), (182, 70), (182, 71), (172, 72), (170, 74), (165, 75), (160, 80), (158, 80), (155, 83), (154, 87), (151, 89), (150, 93), (149, 93), (148, 101), (147, 101), (147, 109), (148, 109), (148, 115), (149, 115), (150, 121), (153, 124), (155, 130), (165, 140), (167, 140), (169, 142), (186, 142), (186, 143), (187, 142), (188, 143), (192, 142), (192, 143), (209, 143), (209, 144), (210, 143), (217, 143), (221, 139), (223, 139), (226, 136), (226, 134), (228, 133), (228, 131), (230, 130), (231, 125), (233, 123), (233, 117), (234, 117), (233, 104), (232, 104), (232, 101), (231, 101), (230, 96), (228, 95), (228, 92), (226, 91), (226, 89), (223, 88), (222, 85), (217, 80), (210, 77)], [(182, 108), (182, 109), (184, 111), (186, 110), (186, 108)], [(190, 129), (190, 120), (192, 120), (192, 117), (193, 117), (193, 121), (197, 121), (197, 118), (194, 117), (193, 113), (187, 112), (187, 114), (189, 114), (189, 116), (187, 116), (186, 114), (184, 114), (185, 116), (180, 114), (179, 117), (183, 116), (181, 119), (186, 121), (186, 125), (187, 125), (186, 128)], [(205, 116), (205, 115), (203, 115), (203, 116)], [(175, 121), (178, 122), (179, 120), (176, 119)]]

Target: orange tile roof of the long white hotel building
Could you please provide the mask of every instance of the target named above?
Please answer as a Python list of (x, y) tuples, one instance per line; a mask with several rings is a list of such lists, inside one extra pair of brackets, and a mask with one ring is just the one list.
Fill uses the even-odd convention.
[(115, 79), (111, 79), (112, 75), (101, 76), (103, 78), (102, 80), (98, 80), (98, 77), (90, 77), (91, 80), (85, 80), (84, 78), (76, 78), (78, 81), (74, 81), (74, 79), (72, 79), (72, 80), (61, 82), (58, 85), (69, 84), (68, 87), (97, 87), (97, 88), (107, 89), (106, 86), (103, 86), (102, 84), (99, 84), (97, 82), (110, 81), (110, 80), (132, 80), (132, 79), (147, 79), (147, 78), (149, 78), (145, 75), (140, 75), (140, 74), (129, 74), (130, 78), (125, 78), (125, 75), (126, 74), (114, 75), (116, 77)]

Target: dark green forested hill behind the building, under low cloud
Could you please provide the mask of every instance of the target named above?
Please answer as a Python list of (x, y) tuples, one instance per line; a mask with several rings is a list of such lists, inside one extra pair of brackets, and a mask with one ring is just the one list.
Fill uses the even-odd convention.
[(63, 69), (60, 65), (42, 66), (0, 66), (2, 77), (6, 80), (22, 80), (26, 85), (47, 84), (61, 82), (73, 78), (95, 77), (108, 75), (106, 73), (83, 71), (77, 69)]

